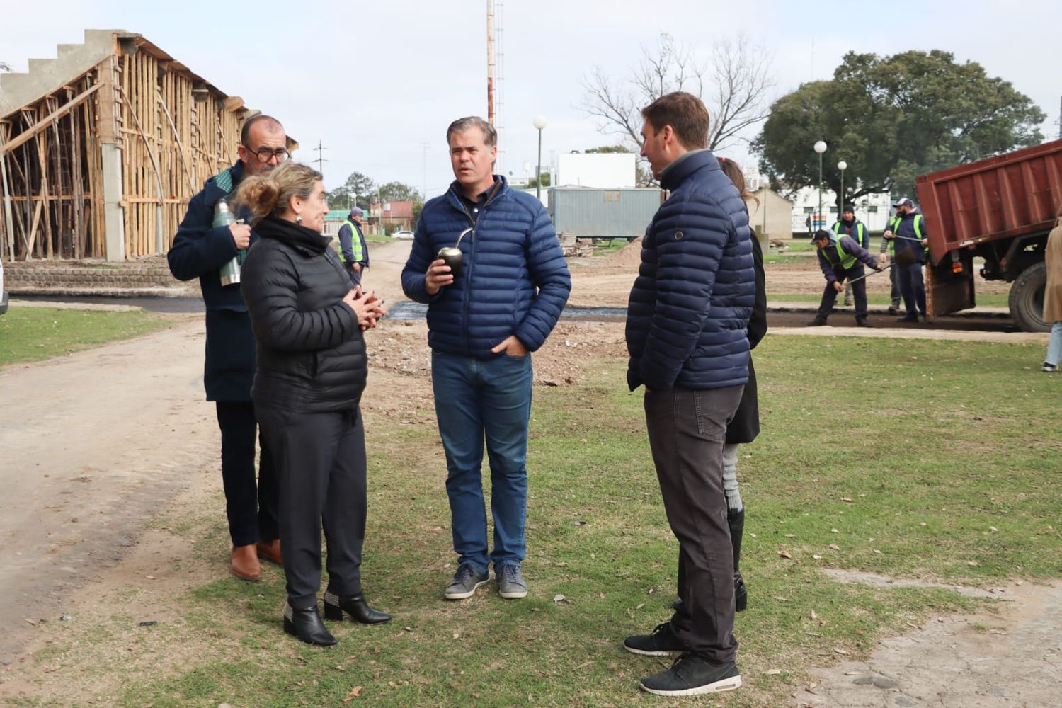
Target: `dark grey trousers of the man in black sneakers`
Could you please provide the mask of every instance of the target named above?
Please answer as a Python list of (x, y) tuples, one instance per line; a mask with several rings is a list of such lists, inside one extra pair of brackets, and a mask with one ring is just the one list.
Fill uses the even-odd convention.
[(723, 441), (744, 386), (647, 392), (646, 427), (664, 511), (679, 539), (675, 636), (708, 661), (733, 661), (734, 552), (723, 493)]

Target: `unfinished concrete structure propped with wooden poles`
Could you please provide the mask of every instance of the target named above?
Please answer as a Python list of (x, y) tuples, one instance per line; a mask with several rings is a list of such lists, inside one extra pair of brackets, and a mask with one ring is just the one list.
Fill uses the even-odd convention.
[(86, 30), (0, 74), (0, 257), (164, 254), (255, 115), (143, 36)]

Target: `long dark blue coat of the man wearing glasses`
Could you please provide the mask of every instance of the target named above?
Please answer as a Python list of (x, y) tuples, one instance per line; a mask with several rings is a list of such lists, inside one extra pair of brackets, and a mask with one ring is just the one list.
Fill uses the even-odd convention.
[[(243, 179), (237, 162), (206, 180), (188, 203), (173, 245), (166, 254), (170, 273), (178, 280), (200, 279), (206, 304), (206, 364), (203, 383), (207, 400), (250, 401), (255, 374), (255, 336), (238, 286), (222, 287), (219, 271), (239, 252), (227, 226), (212, 228), (213, 205), (236, 191)], [(250, 223), (245, 209), (238, 215)], [(252, 245), (257, 236), (251, 234)]]

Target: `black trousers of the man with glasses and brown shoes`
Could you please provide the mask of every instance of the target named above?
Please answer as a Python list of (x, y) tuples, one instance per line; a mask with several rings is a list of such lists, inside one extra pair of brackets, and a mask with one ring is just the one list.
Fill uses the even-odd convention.
[(251, 401), (217, 401), (221, 428), (221, 480), (233, 546), (249, 546), (279, 537), (276, 469), (261, 436), (258, 480), (255, 481), (255, 437), (258, 420)]

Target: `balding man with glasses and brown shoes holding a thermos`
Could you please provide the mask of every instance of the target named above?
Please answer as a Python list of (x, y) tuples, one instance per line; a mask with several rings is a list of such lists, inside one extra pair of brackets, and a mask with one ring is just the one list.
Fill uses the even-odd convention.
[(240, 295), (239, 281), (225, 284), (221, 269), (255, 242), (246, 207), (236, 223), (213, 226), (219, 201), (228, 202), (244, 177), (268, 174), (290, 157), (288, 136), (279, 121), (258, 115), (243, 123), (239, 161), (206, 180), (188, 203), (173, 245), (167, 254), (178, 280), (199, 278), (206, 304), (206, 399), (215, 401), (221, 429), (221, 478), (233, 541), (229, 570), (245, 581), (261, 579), (259, 556), (279, 565), (277, 481), (264, 439), (255, 474), (258, 421), (251, 401), (255, 373), (255, 338)]

